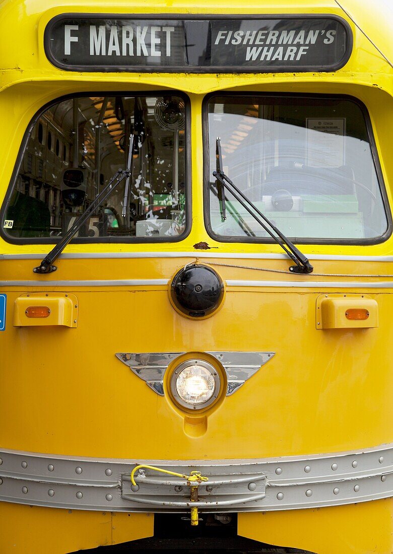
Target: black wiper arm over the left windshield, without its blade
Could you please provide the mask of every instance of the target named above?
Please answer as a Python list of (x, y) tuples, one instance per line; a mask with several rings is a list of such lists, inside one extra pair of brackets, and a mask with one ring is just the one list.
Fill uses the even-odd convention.
[(83, 214), (81, 214), (81, 216), (76, 220), (72, 227), (69, 228), (68, 232), (64, 235), (62, 240), (60, 240), (60, 242), (52, 250), (50, 250), (49, 254), (45, 256), (40, 265), (37, 268), (33, 269), (34, 273), (52, 273), (52, 271), (57, 270), (57, 266), (52, 265), (53, 262), (63, 252), (64, 248), (67, 246), (70, 240), (72, 240), (74, 235), (78, 233), (82, 225), (89, 219), (90, 214), (93, 213), (96, 208), (101, 206), (103, 202), (105, 202), (106, 198), (108, 198), (110, 194), (113, 193), (118, 184), (120, 184), (121, 181), (125, 179), (125, 177), (128, 177), (130, 175), (130, 172), (130, 167), (127, 167), (126, 170), (120, 168), (118, 171), (116, 171), (115, 175), (113, 175), (113, 177), (109, 179), (108, 184), (106, 184), (102, 191), (95, 197), (90, 206), (85, 209)]

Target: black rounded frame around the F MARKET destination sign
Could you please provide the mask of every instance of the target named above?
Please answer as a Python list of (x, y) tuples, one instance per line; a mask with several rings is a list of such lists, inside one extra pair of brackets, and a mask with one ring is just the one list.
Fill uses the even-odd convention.
[[(324, 20), (334, 20), (339, 22), (344, 27), (346, 34), (346, 50), (335, 64), (330, 65), (274, 65), (274, 66), (162, 66), (162, 65), (71, 65), (60, 62), (55, 58), (52, 52), (51, 45), (51, 32), (55, 24), (61, 22), (62, 20), (70, 19), (129, 19), (132, 20), (264, 20), (264, 19), (324, 19)], [(130, 14), (130, 13), (64, 13), (59, 14), (58, 16), (50, 19), (49, 23), (44, 30), (44, 50), (47, 55), (48, 60), (56, 68), (67, 70), (67, 71), (83, 71), (88, 73), (248, 73), (248, 74), (258, 74), (258, 73), (307, 73), (307, 72), (324, 72), (330, 73), (341, 69), (349, 60), (353, 49), (353, 34), (350, 28), (349, 23), (340, 16), (336, 14)]]

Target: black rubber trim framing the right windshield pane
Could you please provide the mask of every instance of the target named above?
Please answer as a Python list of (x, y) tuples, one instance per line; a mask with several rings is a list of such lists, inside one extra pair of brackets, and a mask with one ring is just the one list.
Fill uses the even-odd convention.
[(203, 143), (206, 145), (203, 150), (203, 219), (205, 221), (205, 228), (207, 234), (214, 240), (220, 243), (257, 243), (257, 244), (275, 244), (272, 238), (261, 238), (261, 237), (224, 237), (222, 235), (217, 235), (213, 232), (210, 222), (210, 189), (209, 189), (209, 171), (210, 171), (210, 145), (208, 141), (208, 103), (215, 96), (251, 96), (252, 98), (314, 98), (314, 99), (326, 99), (326, 100), (348, 100), (357, 104), (364, 116), (366, 123), (366, 130), (368, 132), (369, 141), (370, 141), (370, 150), (372, 160), (374, 161), (374, 167), (378, 179), (378, 184), (380, 187), (382, 203), (385, 209), (385, 215), (387, 220), (387, 229), (386, 232), (380, 237), (372, 239), (326, 239), (326, 238), (315, 238), (315, 239), (306, 239), (306, 238), (297, 238), (297, 237), (288, 237), (294, 244), (348, 244), (348, 245), (372, 245), (380, 244), (387, 240), (393, 230), (392, 225), (392, 214), (389, 205), (389, 199), (386, 194), (386, 187), (384, 182), (384, 177), (382, 175), (381, 166), (379, 163), (379, 157), (377, 152), (377, 147), (374, 140), (374, 134), (372, 132), (372, 125), (369, 116), (369, 112), (366, 106), (359, 99), (354, 96), (346, 94), (303, 94), (303, 93), (242, 93), (242, 92), (227, 92), (227, 91), (215, 91), (214, 93), (207, 94), (203, 99), (202, 104), (202, 135)]

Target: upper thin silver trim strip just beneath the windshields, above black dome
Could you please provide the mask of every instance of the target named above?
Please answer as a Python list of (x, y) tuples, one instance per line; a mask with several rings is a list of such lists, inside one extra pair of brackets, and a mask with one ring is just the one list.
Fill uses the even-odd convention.
[[(0, 260), (41, 260), (46, 252), (42, 254), (0, 254)], [(307, 254), (309, 260), (340, 260), (340, 261), (393, 261), (393, 256), (345, 256), (329, 254)], [(244, 260), (288, 260), (285, 254), (237, 254), (224, 252), (86, 252), (86, 253), (63, 253), (62, 259), (142, 259), (142, 258), (229, 258)], [(290, 260), (288, 260), (290, 261)]]

